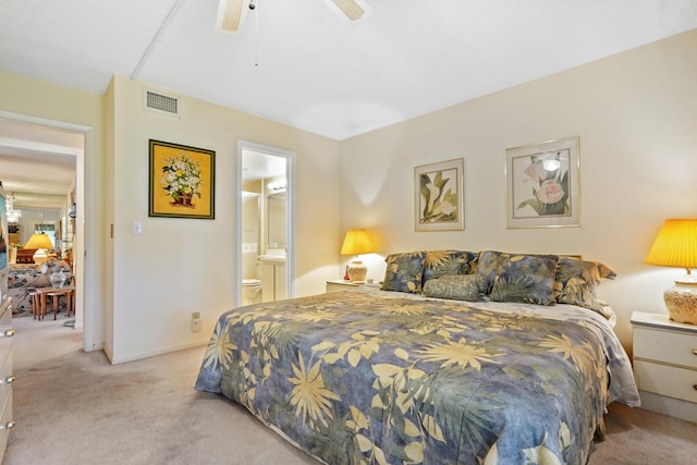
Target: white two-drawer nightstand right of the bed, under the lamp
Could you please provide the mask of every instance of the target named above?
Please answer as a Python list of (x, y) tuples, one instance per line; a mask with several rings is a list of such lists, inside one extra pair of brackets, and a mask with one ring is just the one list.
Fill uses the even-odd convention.
[(697, 326), (635, 311), (632, 329), (641, 407), (697, 423)]

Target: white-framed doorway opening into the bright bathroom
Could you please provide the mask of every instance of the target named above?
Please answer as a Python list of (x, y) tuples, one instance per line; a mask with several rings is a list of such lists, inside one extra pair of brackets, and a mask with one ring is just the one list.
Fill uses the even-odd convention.
[(295, 154), (237, 143), (237, 305), (294, 296)]

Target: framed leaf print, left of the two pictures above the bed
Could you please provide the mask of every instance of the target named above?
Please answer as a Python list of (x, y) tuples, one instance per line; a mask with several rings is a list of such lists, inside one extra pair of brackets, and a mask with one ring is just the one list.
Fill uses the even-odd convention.
[(414, 195), (416, 231), (465, 229), (462, 158), (415, 167)]

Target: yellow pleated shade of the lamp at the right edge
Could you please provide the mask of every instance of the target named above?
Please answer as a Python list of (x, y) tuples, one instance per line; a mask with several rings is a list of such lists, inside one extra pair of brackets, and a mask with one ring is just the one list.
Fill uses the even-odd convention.
[(647, 265), (697, 268), (697, 219), (665, 220), (646, 257)]

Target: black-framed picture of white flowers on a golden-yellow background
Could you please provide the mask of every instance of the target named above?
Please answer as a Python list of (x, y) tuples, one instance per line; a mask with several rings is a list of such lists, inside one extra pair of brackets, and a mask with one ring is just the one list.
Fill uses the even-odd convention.
[(215, 218), (216, 152), (149, 142), (149, 217)]

